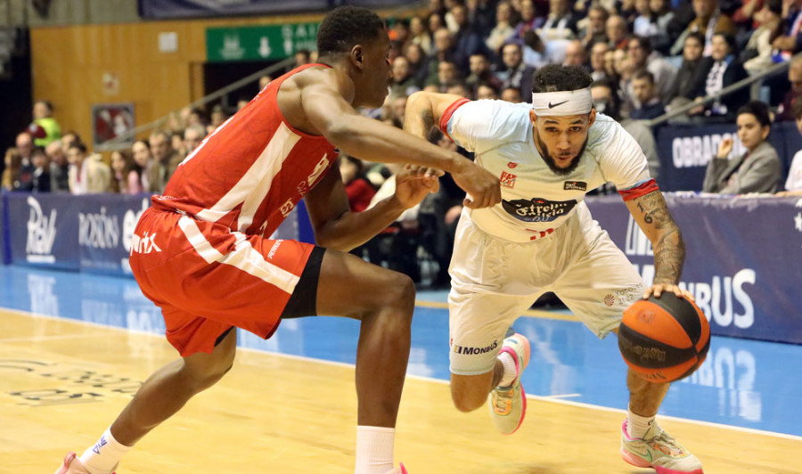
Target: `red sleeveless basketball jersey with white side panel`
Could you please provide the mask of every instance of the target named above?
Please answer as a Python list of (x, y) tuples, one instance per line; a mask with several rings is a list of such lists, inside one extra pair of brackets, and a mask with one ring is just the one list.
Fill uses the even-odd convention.
[(262, 89), (187, 155), (153, 204), (232, 231), (274, 233), (336, 159), (323, 136), (292, 127), (277, 101), (285, 79), (321, 66), (293, 69)]

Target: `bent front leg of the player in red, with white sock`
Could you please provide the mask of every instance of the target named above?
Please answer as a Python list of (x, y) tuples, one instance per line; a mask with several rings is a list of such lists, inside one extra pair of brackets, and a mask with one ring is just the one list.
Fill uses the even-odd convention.
[(356, 474), (393, 466), (398, 405), (409, 358), (415, 289), (404, 274), (327, 250), (317, 287), (318, 315), (359, 319), (356, 348)]

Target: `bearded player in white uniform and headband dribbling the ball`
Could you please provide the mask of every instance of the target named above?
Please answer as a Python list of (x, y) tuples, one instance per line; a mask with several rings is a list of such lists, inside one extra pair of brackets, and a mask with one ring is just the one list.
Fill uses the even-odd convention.
[[(533, 78), (532, 104), (433, 93), (413, 94), (407, 104), (405, 130), (424, 136), (438, 125), (501, 181), (501, 203), (462, 212), (448, 301), (454, 405), (475, 410), (489, 393), (504, 434), (518, 429), (526, 412), (520, 372), (529, 358), (525, 337), (504, 334), (541, 294), (557, 294), (599, 338), (618, 331), (636, 298), (663, 291), (692, 298), (677, 286), (683, 239), (646, 157), (615, 120), (593, 110), (591, 82), (582, 69), (550, 65)], [(608, 182), (651, 240), (650, 288), (583, 202)], [(629, 372), (627, 385), (625, 461), (660, 474), (700, 474), (699, 460), (654, 420), (669, 384)]]

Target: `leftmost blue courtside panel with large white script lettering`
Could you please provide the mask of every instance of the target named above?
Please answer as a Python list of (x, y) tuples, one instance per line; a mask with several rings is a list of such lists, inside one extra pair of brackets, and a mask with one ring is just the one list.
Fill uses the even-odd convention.
[(63, 194), (6, 195), (12, 262), (78, 270), (78, 200)]

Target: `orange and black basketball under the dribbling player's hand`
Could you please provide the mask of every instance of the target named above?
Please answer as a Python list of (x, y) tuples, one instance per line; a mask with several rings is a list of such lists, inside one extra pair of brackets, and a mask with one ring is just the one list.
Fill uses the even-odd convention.
[(710, 325), (692, 301), (663, 292), (624, 311), (618, 348), (643, 379), (670, 382), (691, 375), (708, 355)]

